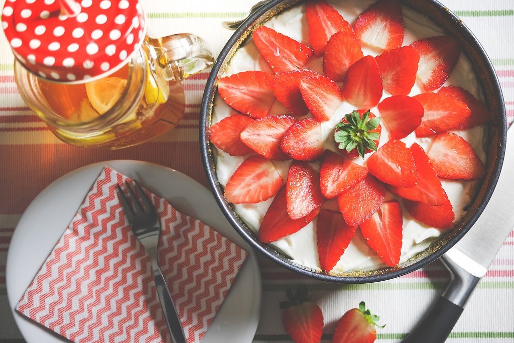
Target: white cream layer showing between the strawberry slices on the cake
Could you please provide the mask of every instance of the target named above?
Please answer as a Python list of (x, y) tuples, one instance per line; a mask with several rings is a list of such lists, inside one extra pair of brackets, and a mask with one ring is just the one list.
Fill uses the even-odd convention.
[[(345, 0), (345, 1), (328, 1), (336, 10), (341, 13), (343, 18), (349, 23), (353, 23), (355, 19), (362, 13), (366, 8), (369, 7), (374, 0)], [(414, 41), (422, 38), (433, 37), (436, 35), (445, 34), (443, 29), (435, 25), (427, 16), (414, 11), (410, 7), (402, 6), (403, 11), (403, 24), (405, 25), (405, 37), (403, 38), (402, 45), (409, 45)], [(310, 46), (308, 37), (308, 24), (305, 17), (305, 6), (299, 5), (293, 7), (287, 11), (284, 11), (280, 15), (272, 17), (268, 22), (264, 24), (280, 33), (288, 35), (289, 37), (307, 44)], [(362, 47), (364, 56), (371, 55), (373, 57), (379, 55), (381, 51), (369, 47)], [(304, 66), (306, 69), (313, 69), (320, 74), (323, 74), (322, 67), (323, 59), (321, 57), (314, 57)], [(271, 68), (267, 62), (260, 55), (259, 50), (255, 44), (249, 39), (244, 46), (240, 47), (232, 57), (227, 70), (223, 76), (230, 76), (232, 74), (240, 73), (246, 70), (262, 70), (269, 74), (273, 74)], [(466, 89), (468, 92), (473, 94), (475, 97), (483, 100), (483, 95), (476, 79), (473, 67), (461, 52), (461, 56), (453, 69), (453, 72), (449, 79), (444, 84), (460, 86)], [(414, 96), (421, 91), (420, 84), (416, 81), (414, 84), (410, 96)], [(386, 91), (383, 91), (382, 100), (388, 98), (391, 95)], [(337, 122), (339, 122), (344, 115), (351, 113), (356, 110), (356, 107), (350, 103), (343, 102), (339, 109), (336, 111), (331, 120), (322, 123), (322, 132), (324, 139), (325, 149), (332, 151), (338, 151), (336, 143), (333, 138), (334, 128)], [(234, 113), (235, 110), (231, 109), (219, 95), (216, 95), (214, 109), (212, 114), (212, 124), (219, 122), (223, 118)], [(375, 115), (379, 116), (379, 111), (376, 107), (371, 109)], [(287, 114), (288, 111), (284, 108), (282, 103), (278, 100), (275, 101), (271, 107), (271, 115)], [(308, 114), (306, 117), (311, 117)], [(463, 131), (452, 131), (470, 143), (475, 153), (479, 156), (482, 162), (485, 164), (486, 153), (484, 149), (484, 127), (478, 126)], [(385, 125), (382, 124), (382, 133), (380, 135), (379, 147), (382, 146), (389, 140), (389, 133)], [(407, 147), (410, 147), (412, 143), (417, 142), (425, 151), (428, 152), (430, 149), (434, 137), (417, 138), (414, 133), (401, 139), (406, 143)], [(214, 151), (216, 160), (216, 174), (219, 183), (225, 187), (230, 176), (234, 173), (237, 167), (243, 162), (246, 156), (230, 156), (222, 150), (215, 149)], [(366, 154), (366, 158), (371, 154)], [(360, 157), (355, 158), (354, 162), (363, 164), (364, 160)], [(284, 183), (287, 179), (287, 172), (291, 160), (288, 161), (273, 161), (277, 167)], [(316, 170), (319, 170), (319, 161), (311, 163)], [(478, 181), (454, 181), (442, 179), (441, 183), (443, 188), (448, 194), (448, 198), (453, 206), (455, 213), (455, 223), (458, 222), (465, 215), (465, 207), (471, 203), (475, 196), (476, 189), (479, 186)], [(400, 198), (390, 192), (386, 193), (386, 201), (392, 199), (399, 200)], [(249, 228), (257, 232), (261, 226), (261, 222), (268, 210), (269, 205), (273, 201), (270, 198), (258, 204), (235, 204), (233, 208), (240, 218), (247, 224)], [(401, 201), (400, 201), (401, 204)], [(322, 206), (322, 208), (331, 208), (338, 210), (336, 200), (329, 200)], [(401, 248), (400, 262), (406, 261), (418, 252), (425, 250), (437, 237), (443, 232), (433, 227), (427, 226), (414, 220), (409, 212), (403, 210), (403, 239)], [(320, 269), (317, 241), (316, 241), (316, 219), (310, 222), (307, 226), (302, 228), (296, 233), (293, 233), (287, 237), (284, 237), (278, 241), (272, 242), (271, 245), (277, 247), (279, 251), (288, 255), (296, 263), (302, 264), (306, 267)], [(373, 270), (386, 267), (377, 256), (377, 254), (366, 244), (366, 241), (362, 237), (360, 230), (357, 230), (355, 237), (352, 239), (350, 245), (348, 245), (344, 254), (332, 270), (333, 273), (340, 272), (352, 272), (352, 271), (364, 271)]]

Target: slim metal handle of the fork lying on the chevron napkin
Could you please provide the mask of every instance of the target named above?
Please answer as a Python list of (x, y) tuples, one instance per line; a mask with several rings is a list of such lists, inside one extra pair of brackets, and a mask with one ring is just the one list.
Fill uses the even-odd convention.
[(171, 340), (173, 343), (186, 343), (186, 337), (182, 330), (180, 318), (178, 317), (166, 281), (164, 281), (164, 276), (162, 276), (159, 264), (157, 263), (157, 249), (155, 249), (155, 255), (153, 251), (150, 255), (152, 258), (152, 270), (154, 273), (155, 286), (157, 288), (157, 296), (159, 297), (162, 313), (164, 314), (164, 319), (166, 319), (166, 324), (170, 331)]

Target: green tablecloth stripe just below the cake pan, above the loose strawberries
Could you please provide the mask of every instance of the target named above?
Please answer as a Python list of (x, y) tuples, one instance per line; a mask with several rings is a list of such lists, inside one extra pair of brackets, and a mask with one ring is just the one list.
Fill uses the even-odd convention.
[[(286, 284), (270, 284), (264, 281), (263, 291), (285, 292), (301, 281)], [(308, 283), (313, 291), (402, 291), (402, 290), (440, 290), (447, 286), (447, 282), (387, 282), (364, 284), (335, 284), (335, 283)], [(484, 289), (514, 289), (514, 281), (482, 281), (478, 288)]]

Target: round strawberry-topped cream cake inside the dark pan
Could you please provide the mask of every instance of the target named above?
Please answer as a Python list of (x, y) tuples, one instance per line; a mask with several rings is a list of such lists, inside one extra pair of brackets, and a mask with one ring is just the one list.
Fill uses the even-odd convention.
[(259, 240), (340, 274), (395, 267), (466, 213), (491, 119), (458, 41), (397, 0), (308, 1), (218, 81), (209, 137)]

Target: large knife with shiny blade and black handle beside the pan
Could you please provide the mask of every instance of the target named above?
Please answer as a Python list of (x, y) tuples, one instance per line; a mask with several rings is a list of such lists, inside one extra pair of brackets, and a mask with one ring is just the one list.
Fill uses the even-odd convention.
[[(514, 130), (507, 133), (514, 143)], [(443, 343), (452, 331), (476, 285), (514, 227), (514, 153), (505, 154), (494, 193), (473, 227), (441, 259), (450, 270), (446, 291), (403, 343)]]

